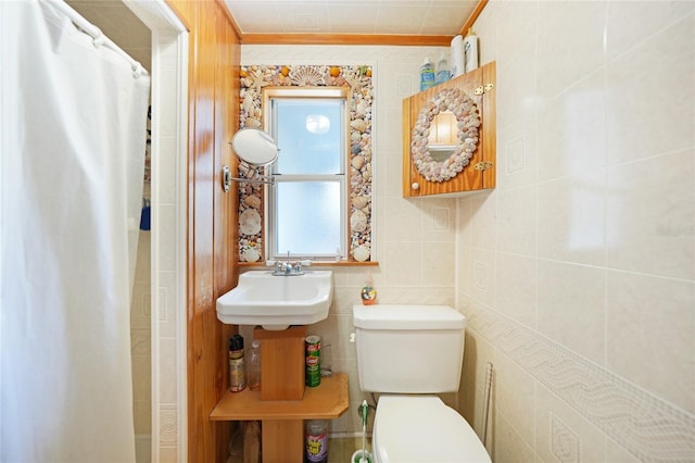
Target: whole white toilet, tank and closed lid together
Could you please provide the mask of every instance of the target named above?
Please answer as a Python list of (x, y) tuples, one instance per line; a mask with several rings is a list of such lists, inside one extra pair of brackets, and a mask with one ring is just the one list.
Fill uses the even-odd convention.
[(458, 390), (466, 318), (446, 305), (354, 305), (359, 388), (380, 392), (375, 463), (490, 462), (466, 420), (437, 396)]

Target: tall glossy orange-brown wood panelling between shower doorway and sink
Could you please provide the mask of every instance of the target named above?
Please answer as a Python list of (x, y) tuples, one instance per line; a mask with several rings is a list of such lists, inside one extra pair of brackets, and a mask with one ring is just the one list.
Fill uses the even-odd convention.
[(215, 301), (237, 283), (235, 192), (222, 190), (238, 126), (239, 37), (222, 0), (168, 0), (189, 28), (187, 249), (188, 461), (224, 462), (231, 425), (210, 413), (227, 390), (232, 327)]

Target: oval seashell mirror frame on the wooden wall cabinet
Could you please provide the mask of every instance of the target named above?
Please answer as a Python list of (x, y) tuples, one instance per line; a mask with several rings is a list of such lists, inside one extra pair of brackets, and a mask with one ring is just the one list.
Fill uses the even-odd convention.
[[(428, 149), (430, 126), (438, 114), (451, 111), (456, 116), (459, 143), (444, 161), (437, 161)], [(429, 182), (446, 182), (466, 167), (478, 148), (480, 110), (473, 100), (458, 88), (438, 91), (420, 110), (410, 142), (415, 168)]]

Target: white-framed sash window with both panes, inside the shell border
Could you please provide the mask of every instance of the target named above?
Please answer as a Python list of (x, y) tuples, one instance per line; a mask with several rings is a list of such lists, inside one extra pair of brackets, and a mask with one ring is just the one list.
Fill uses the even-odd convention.
[(345, 255), (349, 88), (263, 90), (266, 132), (280, 155), (269, 187), (268, 258)]

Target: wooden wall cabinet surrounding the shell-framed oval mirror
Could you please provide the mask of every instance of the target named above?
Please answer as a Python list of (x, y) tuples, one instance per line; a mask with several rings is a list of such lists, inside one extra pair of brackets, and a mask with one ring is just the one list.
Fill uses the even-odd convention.
[[(488, 63), (475, 71), (454, 77), (443, 84), (421, 91), (403, 100), (403, 197), (458, 196), (466, 191), (477, 191), (494, 188), (495, 186), (495, 63)], [(434, 101), (440, 101), (445, 90), (458, 89), (478, 108), (480, 126), (478, 127), (478, 143), (468, 164), (462, 172), (442, 182), (428, 179), (416, 167), (414, 155), (421, 158), (421, 151), (414, 148), (416, 134), (422, 134), (421, 111), (431, 111)], [(460, 123), (456, 118), (455, 123)], [(427, 125), (427, 124), (425, 124)], [(432, 127), (432, 130), (434, 127)], [(416, 153), (416, 151), (418, 151)], [(441, 159), (441, 158), (439, 158)], [(431, 163), (432, 161), (430, 161)], [(448, 164), (437, 162), (444, 168)], [(432, 178), (430, 176), (430, 178)]]

